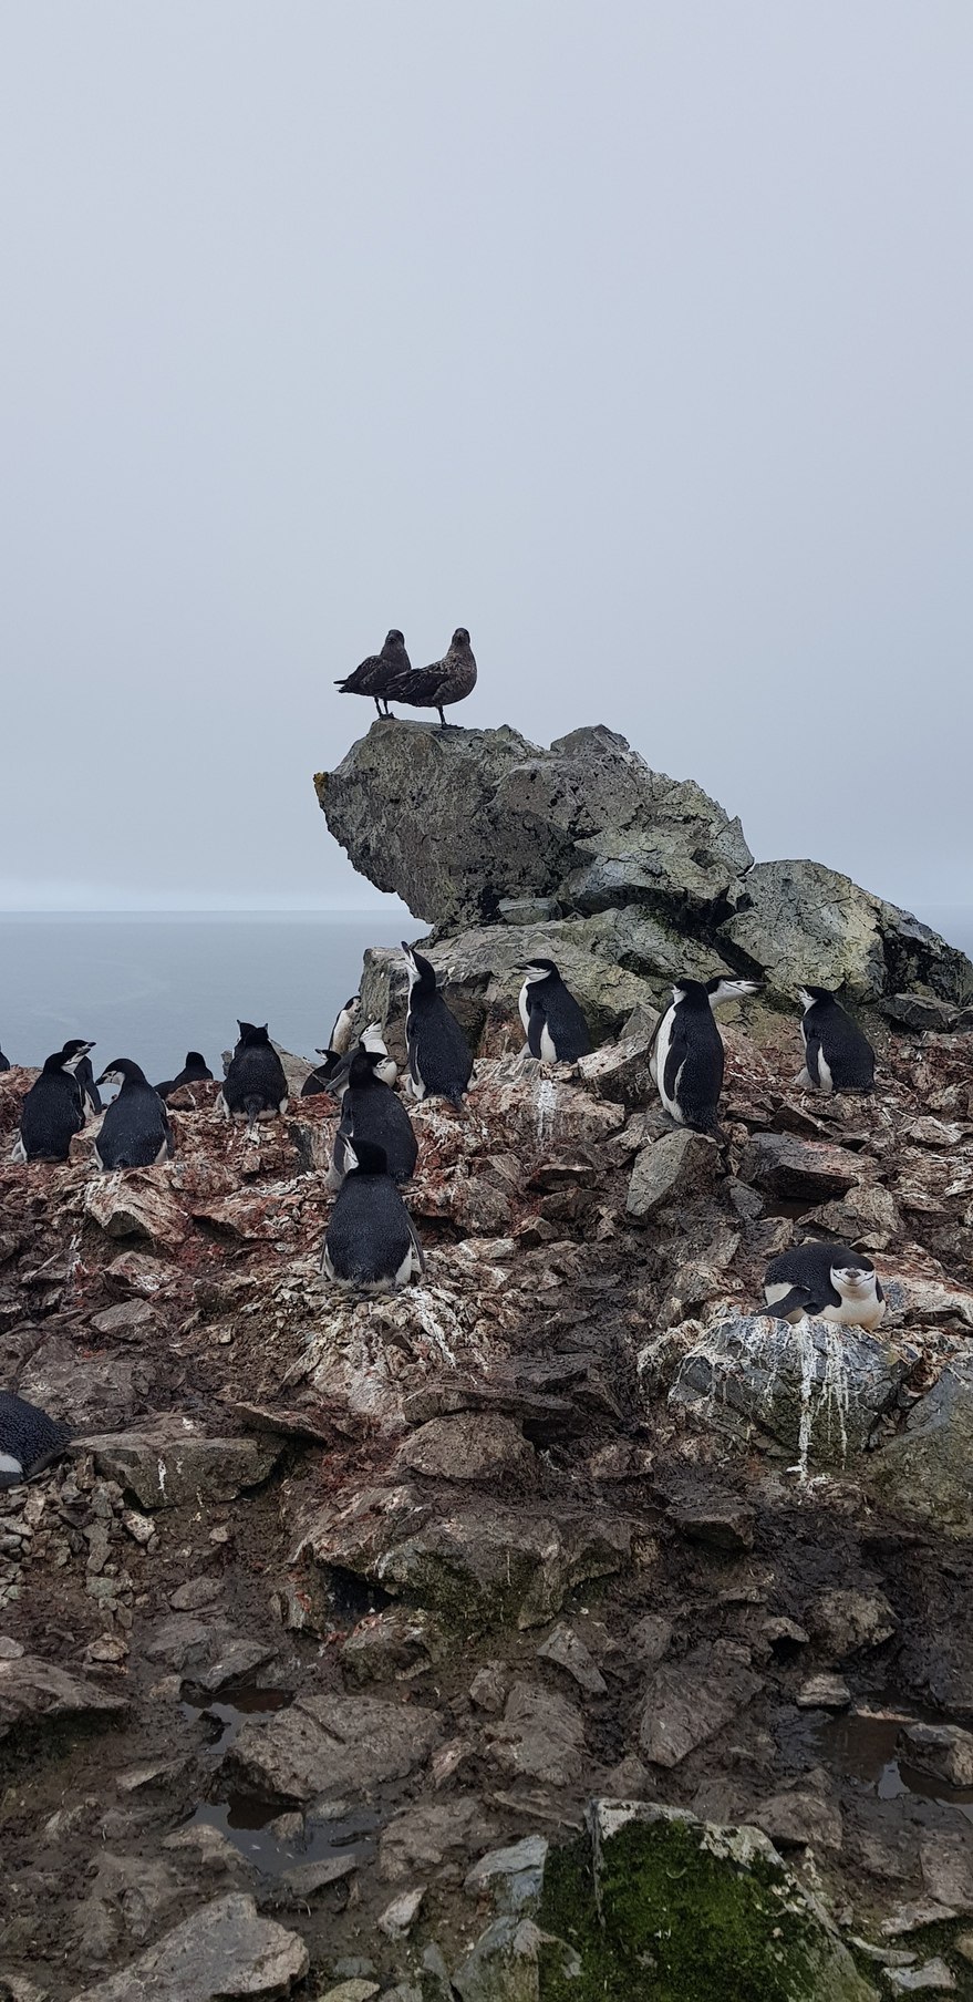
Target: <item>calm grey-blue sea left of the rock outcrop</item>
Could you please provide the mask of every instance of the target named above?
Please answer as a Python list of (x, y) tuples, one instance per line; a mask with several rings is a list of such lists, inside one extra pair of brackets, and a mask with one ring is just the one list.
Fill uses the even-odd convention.
[(94, 1075), (134, 1057), (152, 1083), (202, 1049), (220, 1077), (242, 1015), (310, 1057), (358, 987), (364, 947), (418, 929), (384, 911), (0, 917), (0, 1049), (42, 1063), (84, 1035)]

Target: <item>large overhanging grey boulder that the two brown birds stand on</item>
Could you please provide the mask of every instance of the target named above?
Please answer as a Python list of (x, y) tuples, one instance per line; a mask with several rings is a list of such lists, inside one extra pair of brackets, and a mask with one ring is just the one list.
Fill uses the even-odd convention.
[(545, 751), (507, 727), (376, 721), (314, 785), (354, 867), (454, 929), (491, 923), (501, 899), (709, 909), (753, 861), (715, 799), (603, 727)]

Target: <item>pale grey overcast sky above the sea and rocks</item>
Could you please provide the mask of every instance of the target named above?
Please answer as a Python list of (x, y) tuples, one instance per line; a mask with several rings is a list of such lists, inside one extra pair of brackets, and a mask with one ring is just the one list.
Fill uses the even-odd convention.
[(969, 901), (969, 0), (6, 0), (0, 905), (360, 905), (332, 679)]

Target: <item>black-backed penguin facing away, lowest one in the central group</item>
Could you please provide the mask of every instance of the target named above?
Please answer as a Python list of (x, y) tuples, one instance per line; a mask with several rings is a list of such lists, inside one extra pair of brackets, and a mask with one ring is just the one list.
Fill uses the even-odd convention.
[(324, 1233), (320, 1269), (326, 1279), (364, 1293), (390, 1293), (422, 1271), (422, 1249), (386, 1173), (384, 1147), (346, 1145), (344, 1181)]

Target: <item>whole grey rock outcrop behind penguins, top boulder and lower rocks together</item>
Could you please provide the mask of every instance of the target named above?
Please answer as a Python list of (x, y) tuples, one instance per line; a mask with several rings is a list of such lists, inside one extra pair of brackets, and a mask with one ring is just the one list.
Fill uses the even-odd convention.
[[(723, 967), (789, 1005), (801, 981), (899, 1011), (973, 1001), (973, 965), (927, 925), (823, 863), (755, 865), (739, 819), (603, 727), (545, 751), (513, 729), (380, 719), (314, 785), (354, 867), (436, 927), (432, 957), (472, 1017), (482, 1003), (480, 1027), (491, 1005), (509, 1013), (529, 951), (559, 961), (597, 1029), (675, 973)], [(374, 1003), (384, 967), (370, 977)]]

